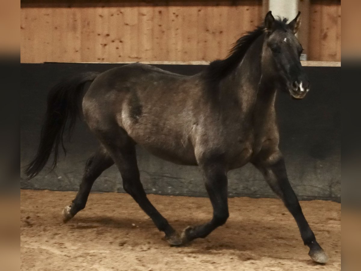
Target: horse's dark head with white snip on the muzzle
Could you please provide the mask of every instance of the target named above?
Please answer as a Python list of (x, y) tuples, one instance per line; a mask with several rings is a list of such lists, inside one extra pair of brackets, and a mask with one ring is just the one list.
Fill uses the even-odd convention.
[(301, 66), (302, 46), (295, 34), (300, 26), (300, 12), (286, 24), (275, 20), (271, 12), (265, 17), (266, 36), (262, 55), (262, 74), (276, 79), (278, 88), (302, 99), (310, 83)]

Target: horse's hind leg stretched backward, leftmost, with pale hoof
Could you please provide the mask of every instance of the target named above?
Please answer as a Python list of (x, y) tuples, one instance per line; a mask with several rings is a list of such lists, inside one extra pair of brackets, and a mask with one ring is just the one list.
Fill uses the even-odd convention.
[(100, 147), (86, 162), (84, 175), (80, 183), (79, 191), (70, 206), (63, 210), (63, 221), (66, 223), (77, 212), (83, 210), (94, 181), (100, 174), (114, 164), (108, 152)]

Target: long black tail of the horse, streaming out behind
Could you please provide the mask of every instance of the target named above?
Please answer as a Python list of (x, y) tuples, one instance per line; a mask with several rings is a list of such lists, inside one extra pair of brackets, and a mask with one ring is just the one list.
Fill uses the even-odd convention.
[(38, 153), (34, 160), (25, 169), (29, 179), (35, 177), (44, 168), (49, 156), (54, 149), (55, 168), (58, 158), (58, 148), (61, 143), (64, 152), (63, 135), (66, 123), (69, 120), (69, 132), (75, 125), (75, 120), (80, 113), (80, 104), (83, 87), (86, 82), (92, 82), (99, 73), (88, 72), (68, 79), (54, 86), (48, 94), (48, 107), (43, 124)]

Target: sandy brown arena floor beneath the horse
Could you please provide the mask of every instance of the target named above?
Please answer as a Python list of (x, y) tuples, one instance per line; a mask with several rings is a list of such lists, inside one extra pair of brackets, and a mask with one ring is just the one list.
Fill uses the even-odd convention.
[[(171, 248), (127, 194), (93, 193), (67, 224), (75, 192), (21, 190), (21, 270), (340, 270), (341, 205), (301, 202), (329, 255), (313, 263), (295, 221), (277, 199), (230, 198), (230, 218), (205, 239)], [(208, 198), (149, 195), (178, 231), (212, 214)]]

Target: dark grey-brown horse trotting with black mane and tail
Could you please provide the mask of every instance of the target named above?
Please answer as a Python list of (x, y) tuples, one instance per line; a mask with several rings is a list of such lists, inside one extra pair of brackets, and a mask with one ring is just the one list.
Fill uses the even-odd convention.
[[(40, 145), (26, 175), (36, 176), (52, 151), (52, 168), (56, 166), (60, 144), (65, 151), (64, 133), (74, 127), (82, 109), (100, 145), (86, 162), (76, 197), (62, 212), (64, 223), (85, 207), (93, 182), (115, 163), (124, 190), (171, 246), (181, 246), (226, 223), (227, 172), (252, 163), (293, 215), (309, 256), (326, 263), (327, 255), (305, 219), (278, 148), (276, 93), (299, 100), (310, 89), (300, 63), (303, 48), (295, 36), (299, 16), (300, 12), (288, 22), (268, 12), (260, 26), (236, 41), (228, 57), (193, 76), (132, 63), (59, 83), (48, 94)], [(207, 223), (179, 234), (157, 211), (140, 181), (137, 144), (170, 162), (199, 166), (213, 207)]]

